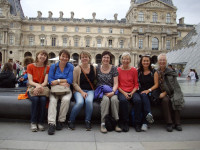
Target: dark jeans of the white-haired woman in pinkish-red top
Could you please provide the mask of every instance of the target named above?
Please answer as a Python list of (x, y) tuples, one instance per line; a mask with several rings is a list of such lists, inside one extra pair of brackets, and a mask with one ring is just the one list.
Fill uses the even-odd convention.
[(133, 103), (134, 114), (135, 114), (135, 123), (137, 125), (141, 124), (141, 113), (142, 113), (142, 101), (138, 93), (134, 93), (130, 100), (127, 100), (126, 97), (119, 92), (119, 119), (120, 122), (129, 121), (129, 101)]

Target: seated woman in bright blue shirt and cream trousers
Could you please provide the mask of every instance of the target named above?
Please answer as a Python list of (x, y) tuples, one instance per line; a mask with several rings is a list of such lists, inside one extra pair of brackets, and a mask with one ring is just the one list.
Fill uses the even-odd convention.
[[(51, 86), (60, 85), (67, 87), (69, 92), (63, 93), (62, 95), (56, 95), (50, 93), (50, 102), (48, 108), (48, 134), (53, 135), (56, 130), (62, 130), (64, 123), (66, 121), (66, 115), (69, 109), (70, 100), (72, 97), (72, 92), (70, 90), (70, 85), (73, 82), (73, 71), (74, 66), (69, 63), (70, 54), (67, 50), (61, 50), (59, 52), (59, 62), (52, 64), (49, 70), (49, 84)], [(57, 102), (61, 100), (60, 111), (58, 116), (58, 121), (56, 122), (57, 115)]]

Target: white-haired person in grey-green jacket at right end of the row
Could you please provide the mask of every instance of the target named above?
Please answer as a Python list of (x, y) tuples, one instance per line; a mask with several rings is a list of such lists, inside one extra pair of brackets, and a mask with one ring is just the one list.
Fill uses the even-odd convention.
[[(180, 111), (184, 106), (183, 93), (177, 81), (177, 73), (167, 68), (166, 54), (158, 56), (158, 79), (159, 87), (161, 89), (160, 99), (167, 123), (166, 130), (173, 131), (173, 127), (182, 131), (180, 122)], [(173, 120), (174, 117), (174, 120)]]

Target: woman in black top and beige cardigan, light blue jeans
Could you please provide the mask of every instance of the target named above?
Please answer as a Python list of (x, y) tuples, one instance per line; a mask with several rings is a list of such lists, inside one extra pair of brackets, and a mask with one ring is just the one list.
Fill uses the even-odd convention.
[(74, 98), (76, 103), (72, 108), (68, 126), (72, 130), (75, 129), (74, 122), (76, 116), (85, 103), (85, 128), (89, 131), (91, 130), (96, 68), (90, 64), (91, 55), (88, 52), (81, 52), (80, 60), (81, 65), (76, 66), (73, 73)]

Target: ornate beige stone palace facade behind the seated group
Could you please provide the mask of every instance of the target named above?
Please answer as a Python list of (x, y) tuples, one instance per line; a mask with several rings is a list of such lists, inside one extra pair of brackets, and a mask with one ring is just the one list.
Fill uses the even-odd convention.
[[(43, 17), (38, 11), (35, 18), (25, 17), (20, 0), (0, 0), (0, 62), (9, 59), (23, 61), (24, 57), (35, 58), (36, 52), (47, 50), (49, 58), (58, 56), (62, 49), (70, 52), (71, 58), (79, 63), (81, 51), (92, 55), (92, 63), (101, 61), (101, 53), (110, 51), (112, 64), (118, 65), (120, 55), (129, 52), (132, 66), (137, 66), (139, 56), (158, 56), (170, 51), (193, 25), (177, 19), (177, 8), (172, 0), (131, 0), (125, 18), (100, 20), (96, 13), (90, 19), (54, 18), (49, 11)], [(106, 17), (106, 16), (105, 16)]]

